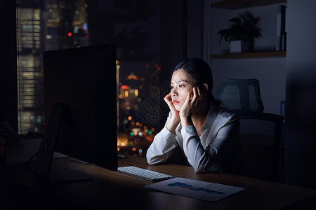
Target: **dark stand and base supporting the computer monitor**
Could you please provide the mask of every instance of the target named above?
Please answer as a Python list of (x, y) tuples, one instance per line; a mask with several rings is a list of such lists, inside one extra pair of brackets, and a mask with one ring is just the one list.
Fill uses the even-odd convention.
[(60, 162), (53, 161), (60, 124), (67, 111), (70, 111), (67, 104), (55, 104), (53, 107), (44, 137), (39, 146), (39, 154), (33, 163), (34, 174), (44, 181), (61, 182), (94, 179), (90, 174), (70, 169), (70, 167), (62, 165)]

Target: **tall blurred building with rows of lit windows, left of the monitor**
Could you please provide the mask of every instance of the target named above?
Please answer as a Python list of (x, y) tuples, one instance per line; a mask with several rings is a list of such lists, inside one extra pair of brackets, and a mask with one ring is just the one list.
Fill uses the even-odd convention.
[[(27, 6), (26, 6), (27, 5)], [(17, 1), (19, 132), (41, 131), (44, 120), (42, 53), (44, 3)]]

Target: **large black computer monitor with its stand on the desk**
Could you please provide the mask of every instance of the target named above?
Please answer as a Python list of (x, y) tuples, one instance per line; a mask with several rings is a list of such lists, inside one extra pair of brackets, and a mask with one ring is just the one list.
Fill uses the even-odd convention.
[(51, 181), (89, 178), (55, 167), (54, 151), (116, 171), (114, 44), (44, 52), (44, 92), (46, 130), (34, 173)]

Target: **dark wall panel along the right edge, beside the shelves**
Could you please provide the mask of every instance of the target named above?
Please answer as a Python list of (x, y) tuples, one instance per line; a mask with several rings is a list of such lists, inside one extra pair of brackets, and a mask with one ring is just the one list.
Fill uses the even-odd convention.
[(284, 182), (316, 188), (316, 1), (287, 1)]

